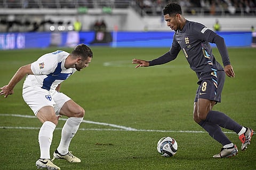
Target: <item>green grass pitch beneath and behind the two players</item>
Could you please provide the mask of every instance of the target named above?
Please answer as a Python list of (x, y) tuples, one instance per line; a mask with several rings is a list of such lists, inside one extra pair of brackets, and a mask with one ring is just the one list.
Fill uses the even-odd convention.
[[(0, 86), (7, 84), (21, 65), (53, 50), (56, 48), (0, 51)], [(212, 156), (219, 153), (221, 145), (207, 133), (178, 132), (204, 131), (193, 121), (197, 78), (182, 53), (165, 65), (134, 69), (133, 58), (152, 60), (169, 49), (92, 47), (92, 50), (94, 57), (89, 68), (76, 72), (61, 87), (62, 92), (85, 108), (84, 120), (170, 132), (126, 131), (82, 123), (69, 148), (82, 162), (70, 164), (55, 160), (61, 169), (256, 169), (255, 136), (249, 148), (242, 152), (237, 134), (227, 133), (237, 145), (238, 155), (214, 159)], [(214, 110), (256, 130), (256, 49), (229, 48), (228, 51), (236, 77), (226, 78), (222, 103), (215, 105)], [(213, 52), (222, 63), (217, 49)], [(22, 99), (22, 83), (14, 88), (14, 95), (6, 99), (1, 96), (0, 115), (34, 115)], [(36, 118), (0, 118), (0, 169), (36, 169), (41, 123)], [(64, 123), (60, 120), (54, 131), (51, 155), (58, 147)], [(178, 152), (171, 158), (162, 157), (156, 149), (157, 141), (164, 136), (178, 142)]]

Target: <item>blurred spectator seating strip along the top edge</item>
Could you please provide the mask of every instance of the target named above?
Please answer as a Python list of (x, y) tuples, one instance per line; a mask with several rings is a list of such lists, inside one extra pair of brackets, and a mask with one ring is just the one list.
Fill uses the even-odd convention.
[[(169, 1), (166, 0), (1, 0), (0, 8), (128, 8), (142, 15), (158, 15)], [(256, 0), (178, 1), (183, 12), (193, 15), (256, 15)]]

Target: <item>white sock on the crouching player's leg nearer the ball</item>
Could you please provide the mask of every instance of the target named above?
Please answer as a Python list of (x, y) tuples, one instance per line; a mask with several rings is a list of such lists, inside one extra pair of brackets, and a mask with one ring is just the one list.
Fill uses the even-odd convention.
[(61, 155), (66, 155), (68, 153), (69, 144), (82, 121), (83, 117), (69, 117), (66, 121), (61, 131), (60, 145), (57, 148)]

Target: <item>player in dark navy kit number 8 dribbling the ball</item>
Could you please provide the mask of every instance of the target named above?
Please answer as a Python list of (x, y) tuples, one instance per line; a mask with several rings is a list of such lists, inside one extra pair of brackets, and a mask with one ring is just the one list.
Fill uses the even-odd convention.
[[(253, 130), (239, 125), (224, 113), (212, 110), (213, 106), (221, 101), (225, 73), (228, 77), (235, 77), (224, 39), (203, 24), (186, 20), (182, 15), (181, 6), (177, 3), (166, 5), (163, 14), (167, 27), (175, 31), (170, 51), (152, 61), (133, 59), (133, 64), (138, 64), (136, 68), (165, 64), (174, 60), (182, 50), (190, 68), (198, 77), (194, 121), (222, 144), (220, 154), (213, 157), (235, 156), (238, 152), (236, 145), (226, 137), (220, 127), (233, 130), (239, 135), (241, 150), (250, 145)], [(224, 69), (215, 60), (209, 43), (217, 45)]]

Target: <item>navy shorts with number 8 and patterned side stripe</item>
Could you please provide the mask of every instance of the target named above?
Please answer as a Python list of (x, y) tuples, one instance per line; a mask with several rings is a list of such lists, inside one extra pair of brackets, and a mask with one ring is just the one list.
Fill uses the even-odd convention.
[(196, 90), (195, 101), (198, 98), (221, 102), (221, 92), (224, 86), (226, 73), (224, 71), (214, 71), (210, 79), (202, 80)]

